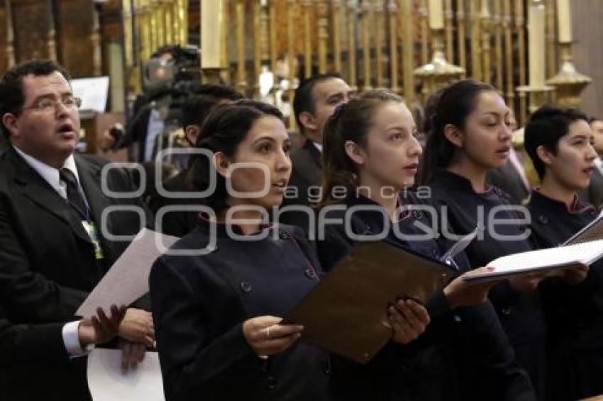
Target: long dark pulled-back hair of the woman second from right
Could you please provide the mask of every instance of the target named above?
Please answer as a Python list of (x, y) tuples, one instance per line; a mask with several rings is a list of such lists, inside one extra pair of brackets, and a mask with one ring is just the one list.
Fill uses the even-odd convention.
[(451, 124), (463, 130), (468, 116), (475, 110), (477, 97), (482, 92), (496, 91), (494, 86), (475, 79), (463, 79), (436, 92), (428, 100), (426, 127), (429, 128), (423, 152), (419, 184), (429, 185), (438, 169), (446, 169), (453, 162), (457, 147), (444, 135)]

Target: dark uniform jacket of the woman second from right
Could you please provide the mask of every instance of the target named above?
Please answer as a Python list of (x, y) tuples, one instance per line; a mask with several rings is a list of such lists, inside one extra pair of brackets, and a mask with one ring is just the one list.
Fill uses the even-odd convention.
[[(439, 210), (445, 236), (447, 232), (465, 235), (478, 228), (477, 238), (465, 249), (473, 269), (500, 256), (533, 249), (527, 227), (520, 223), (527, 218), (527, 210), (511, 205), (497, 187), (476, 193), (468, 179), (438, 170), (431, 182), (431, 203)], [(543, 397), (546, 325), (538, 292), (519, 292), (504, 281), (490, 290), (489, 298), (517, 360), (529, 373), (538, 397)]]

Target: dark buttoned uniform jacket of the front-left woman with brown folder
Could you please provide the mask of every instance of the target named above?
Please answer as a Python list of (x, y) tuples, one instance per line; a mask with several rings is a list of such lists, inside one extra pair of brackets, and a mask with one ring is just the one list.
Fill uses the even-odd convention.
[(283, 317), (316, 285), (301, 230), (264, 227), (265, 239), (245, 241), (228, 227), (201, 220), (172, 250), (213, 251), (161, 256), (150, 273), (166, 400), (329, 400), (326, 352), (298, 341), (263, 360), (243, 336), (245, 320)]

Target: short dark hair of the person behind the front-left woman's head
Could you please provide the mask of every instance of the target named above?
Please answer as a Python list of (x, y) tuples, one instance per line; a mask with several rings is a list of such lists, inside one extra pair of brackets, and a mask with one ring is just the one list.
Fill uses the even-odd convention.
[(240, 92), (229, 86), (201, 85), (182, 104), (182, 128), (188, 125), (201, 127), (209, 112), (220, 101), (237, 101), (243, 98)]

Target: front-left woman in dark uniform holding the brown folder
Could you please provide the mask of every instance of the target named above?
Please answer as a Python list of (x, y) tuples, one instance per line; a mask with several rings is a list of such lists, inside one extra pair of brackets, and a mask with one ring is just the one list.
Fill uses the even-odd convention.
[[(281, 113), (255, 101), (218, 108), (197, 148), (192, 185), (213, 191), (197, 229), (150, 273), (166, 399), (331, 400), (328, 353), (281, 323), (322, 274), (301, 230), (265, 224), (291, 174)], [(399, 319), (394, 332), (408, 335)]]

